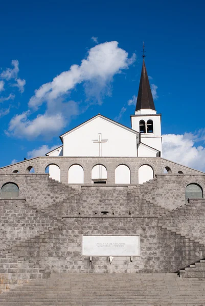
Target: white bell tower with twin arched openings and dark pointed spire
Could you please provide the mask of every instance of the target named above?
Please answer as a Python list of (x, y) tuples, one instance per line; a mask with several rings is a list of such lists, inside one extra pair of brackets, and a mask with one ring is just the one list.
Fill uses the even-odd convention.
[(140, 133), (141, 143), (157, 149), (161, 152), (162, 156), (161, 114), (156, 114), (154, 106), (145, 66), (144, 43), (140, 86), (135, 112), (134, 115), (131, 115), (131, 127), (133, 130)]

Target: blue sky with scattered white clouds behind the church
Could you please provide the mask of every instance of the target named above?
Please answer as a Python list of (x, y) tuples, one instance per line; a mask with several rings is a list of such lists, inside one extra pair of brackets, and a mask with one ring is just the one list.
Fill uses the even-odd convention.
[[(1, 4), (0, 167), (60, 145), (60, 134), (98, 113), (130, 126), (145, 41), (164, 157), (204, 171), (204, 10), (203, 1)], [(96, 59), (106, 50), (104, 67)], [(56, 92), (49, 82), (59, 74)]]

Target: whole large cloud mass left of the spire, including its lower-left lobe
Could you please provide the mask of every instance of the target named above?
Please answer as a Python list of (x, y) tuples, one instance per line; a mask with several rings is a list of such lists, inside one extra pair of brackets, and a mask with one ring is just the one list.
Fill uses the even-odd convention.
[(80, 65), (72, 65), (69, 70), (57, 75), (52, 82), (35, 90), (28, 106), (36, 111), (46, 103), (45, 113), (38, 114), (34, 119), (30, 119), (31, 110), (14, 116), (9, 123), (7, 135), (27, 139), (56, 136), (71, 117), (79, 113), (75, 101), (63, 102), (77, 84), (83, 83), (89, 104), (95, 100), (101, 104), (102, 97), (111, 94), (110, 84), (113, 76), (121, 73), (123, 69), (128, 69), (135, 58), (135, 54), (128, 58), (128, 53), (118, 47), (117, 41), (101, 43), (91, 48)]

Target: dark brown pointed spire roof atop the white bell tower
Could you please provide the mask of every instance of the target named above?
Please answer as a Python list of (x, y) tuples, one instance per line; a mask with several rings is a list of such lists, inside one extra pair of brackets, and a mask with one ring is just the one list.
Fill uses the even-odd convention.
[(136, 100), (135, 112), (141, 109), (151, 109), (155, 111), (154, 100), (152, 97), (152, 92), (149, 84), (144, 58), (143, 58), (140, 86), (138, 91), (138, 99)]

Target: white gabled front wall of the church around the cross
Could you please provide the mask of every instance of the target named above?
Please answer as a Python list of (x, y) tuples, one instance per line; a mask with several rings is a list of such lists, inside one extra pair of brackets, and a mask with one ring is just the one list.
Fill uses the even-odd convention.
[[(102, 151), (94, 140), (102, 134)], [(111, 123), (102, 117), (80, 126), (63, 137), (63, 156), (99, 156), (103, 157), (136, 157), (136, 143), (138, 135)]]

